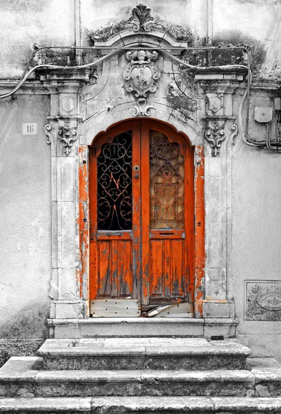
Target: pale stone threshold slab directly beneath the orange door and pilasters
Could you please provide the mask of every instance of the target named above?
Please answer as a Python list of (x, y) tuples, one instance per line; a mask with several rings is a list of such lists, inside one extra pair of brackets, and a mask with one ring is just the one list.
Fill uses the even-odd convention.
[(48, 319), (50, 338), (82, 337), (212, 337), (235, 335), (235, 318), (90, 317)]

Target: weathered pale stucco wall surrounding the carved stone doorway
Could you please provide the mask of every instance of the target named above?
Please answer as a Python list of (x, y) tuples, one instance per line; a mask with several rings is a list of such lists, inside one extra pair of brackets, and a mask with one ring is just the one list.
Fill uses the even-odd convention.
[[(79, 43), (79, 36), (75, 38), (78, 27), (81, 44), (88, 45), (89, 31), (128, 19), (136, 4), (132, 0), (77, 0), (75, 9), (74, 0), (1, 2), (1, 78), (21, 75), (32, 43)], [(256, 79), (280, 81), (280, 1), (233, 0), (226, 7), (225, 0), (150, 0), (146, 5), (155, 19), (172, 28), (187, 26), (194, 42), (206, 37), (226, 43), (253, 41), (255, 68), (260, 74), (254, 73)], [(266, 133), (264, 126), (253, 121), (253, 108), (272, 106), (278, 93), (252, 90), (251, 137), (265, 137)], [(238, 93), (236, 115), (240, 99)], [(49, 97), (17, 94), (15, 99), (0, 101), (0, 111), (0, 337), (39, 338), (46, 335), (51, 275), (50, 147), (43, 133), (50, 113)], [(21, 134), (26, 122), (37, 122), (37, 135)], [(244, 319), (245, 281), (281, 279), (281, 155), (248, 148), (239, 136), (235, 141), (229, 299), (235, 299), (242, 341), (255, 354), (271, 353), (281, 360), (277, 337), (281, 322)]]

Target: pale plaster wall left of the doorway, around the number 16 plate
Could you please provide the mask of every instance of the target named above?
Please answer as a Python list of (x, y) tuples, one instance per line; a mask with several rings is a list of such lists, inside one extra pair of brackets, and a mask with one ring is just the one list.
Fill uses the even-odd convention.
[[(0, 338), (44, 338), (51, 275), (48, 95), (1, 101)], [(22, 135), (23, 123), (37, 135)], [(1, 351), (1, 343), (0, 343)]]

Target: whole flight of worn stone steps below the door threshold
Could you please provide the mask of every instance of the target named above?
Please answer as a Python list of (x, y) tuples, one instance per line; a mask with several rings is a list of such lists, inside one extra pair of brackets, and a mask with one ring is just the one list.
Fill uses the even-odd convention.
[(0, 413), (281, 413), (281, 366), (235, 339), (47, 339), (0, 369)]

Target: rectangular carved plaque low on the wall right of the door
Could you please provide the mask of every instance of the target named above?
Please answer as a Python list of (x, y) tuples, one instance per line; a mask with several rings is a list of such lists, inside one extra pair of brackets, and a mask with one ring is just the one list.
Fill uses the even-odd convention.
[(246, 320), (281, 320), (281, 282), (246, 282)]

